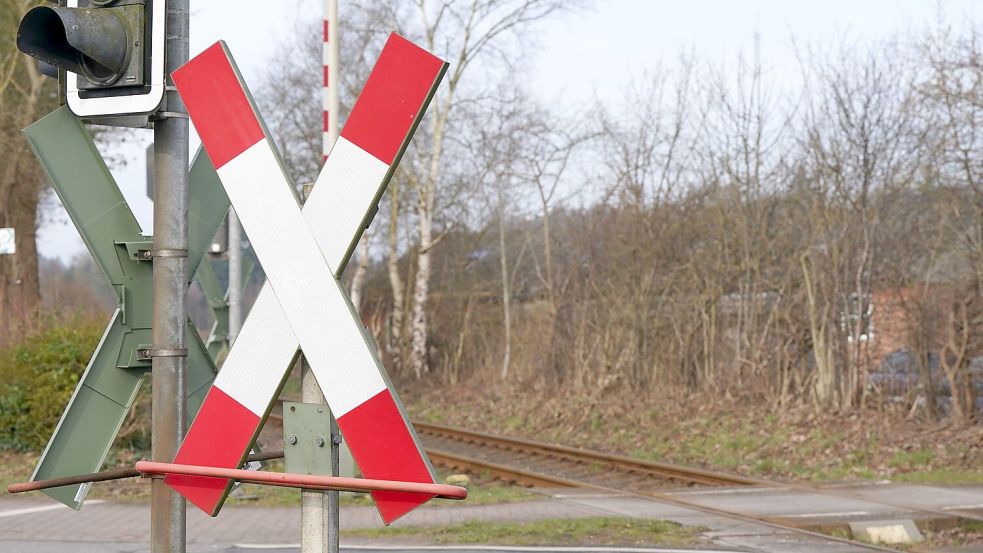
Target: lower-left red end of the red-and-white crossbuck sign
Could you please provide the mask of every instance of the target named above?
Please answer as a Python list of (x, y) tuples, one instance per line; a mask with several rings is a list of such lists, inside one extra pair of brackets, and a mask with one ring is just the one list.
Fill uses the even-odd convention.
[[(212, 386), (198, 410), (174, 462), (182, 465), (239, 468), (242, 453), (252, 445), (260, 418)], [(211, 516), (218, 514), (231, 482), (224, 478), (169, 474), (164, 483)]]

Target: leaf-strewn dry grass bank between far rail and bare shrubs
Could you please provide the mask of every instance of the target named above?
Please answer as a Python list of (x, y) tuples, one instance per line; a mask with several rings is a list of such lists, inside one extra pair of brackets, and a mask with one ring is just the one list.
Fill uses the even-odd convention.
[(709, 394), (580, 396), (483, 385), (403, 394), (421, 420), (774, 479), (983, 483), (983, 426)]

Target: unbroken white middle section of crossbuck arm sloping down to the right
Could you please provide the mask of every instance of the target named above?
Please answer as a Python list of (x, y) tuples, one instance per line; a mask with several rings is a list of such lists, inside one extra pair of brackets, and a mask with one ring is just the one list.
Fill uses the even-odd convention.
[[(343, 417), (385, 390), (386, 383), (276, 154), (261, 140), (217, 172), (315, 377), (326, 384), (322, 391), (332, 413)], [(329, 379), (339, 374), (345, 375), (343, 383)]]

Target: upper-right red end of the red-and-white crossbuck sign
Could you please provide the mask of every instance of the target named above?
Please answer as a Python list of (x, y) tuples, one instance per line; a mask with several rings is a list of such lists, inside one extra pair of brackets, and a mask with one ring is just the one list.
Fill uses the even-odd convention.
[(392, 165), (445, 66), (396, 33), (389, 35), (341, 136)]

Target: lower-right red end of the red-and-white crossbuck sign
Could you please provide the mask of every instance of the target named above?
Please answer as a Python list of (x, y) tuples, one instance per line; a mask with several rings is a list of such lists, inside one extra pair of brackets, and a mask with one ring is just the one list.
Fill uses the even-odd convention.
[[(433, 483), (423, 452), (389, 390), (344, 414), (338, 427), (365, 478)], [(407, 492), (372, 492), (382, 520), (391, 524), (426, 503), (432, 495)]]

